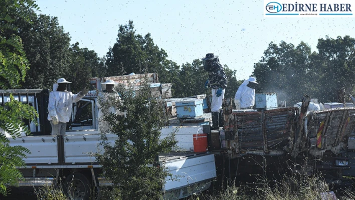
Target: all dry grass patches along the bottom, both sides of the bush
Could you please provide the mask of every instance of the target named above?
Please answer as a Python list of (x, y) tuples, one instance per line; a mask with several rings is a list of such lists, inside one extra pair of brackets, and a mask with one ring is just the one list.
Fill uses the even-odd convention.
[[(189, 200), (314, 200), (333, 198), (322, 198), (321, 194), (330, 192), (329, 186), (321, 176), (284, 176), (281, 181), (267, 180), (262, 176), (252, 185), (240, 187), (231, 184), (222, 191), (214, 190), (214, 194), (200, 193), (188, 198)], [(35, 190), (38, 200), (68, 200), (63, 190), (54, 186), (45, 186)], [(102, 190), (101, 198), (105, 200), (119, 200), (120, 196), (114, 189)], [(338, 195), (338, 194), (337, 194)], [(355, 192), (344, 191), (337, 199), (355, 199)]]

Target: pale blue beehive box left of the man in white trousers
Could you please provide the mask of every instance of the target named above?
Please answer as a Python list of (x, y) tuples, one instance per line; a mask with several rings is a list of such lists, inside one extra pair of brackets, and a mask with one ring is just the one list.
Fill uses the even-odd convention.
[(203, 115), (202, 104), (202, 99), (176, 102), (177, 118), (194, 118)]

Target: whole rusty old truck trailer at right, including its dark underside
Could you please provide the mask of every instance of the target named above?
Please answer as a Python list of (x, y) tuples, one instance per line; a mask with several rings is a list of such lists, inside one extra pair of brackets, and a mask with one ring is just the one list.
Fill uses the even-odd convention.
[[(348, 184), (341, 175), (348, 168), (348, 158), (341, 157), (341, 153), (346, 151), (355, 128), (355, 107), (307, 112), (309, 102), (310, 97), (304, 96), (301, 109), (233, 110), (232, 99), (225, 99), (226, 145), (219, 153), (232, 160), (229, 171), (232, 174), (257, 171), (265, 163), (239, 162), (240, 158), (248, 160), (252, 156), (255, 162), (269, 161), (269, 167), (276, 171), (289, 167), (291, 161), (307, 166), (308, 174), (321, 172), (328, 182), (336, 179), (337, 183)], [(275, 160), (279, 169), (272, 166)], [(235, 171), (238, 168), (240, 172)]]

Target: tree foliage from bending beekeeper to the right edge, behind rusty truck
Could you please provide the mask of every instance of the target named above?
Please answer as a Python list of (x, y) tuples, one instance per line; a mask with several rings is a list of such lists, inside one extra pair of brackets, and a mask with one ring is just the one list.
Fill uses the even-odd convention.
[(304, 93), (318, 102), (337, 101), (336, 91), (354, 87), (354, 45), (349, 36), (318, 40), (318, 53), (304, 42), (298, 46), (282, 41), (270, 43), (254, 65), (258, 92), (277, 92), (288, 106), (300, 102)]

